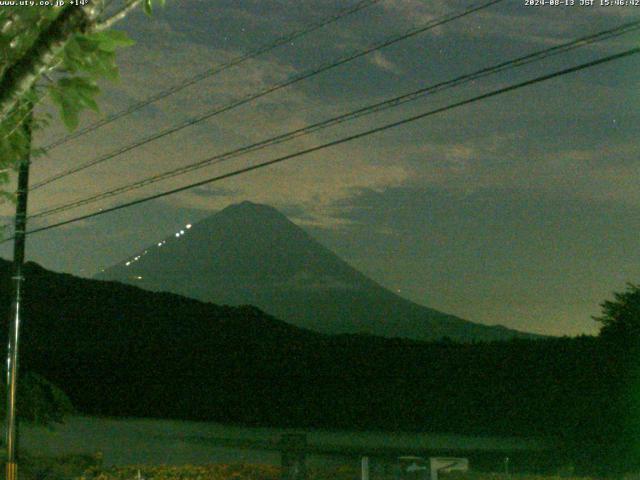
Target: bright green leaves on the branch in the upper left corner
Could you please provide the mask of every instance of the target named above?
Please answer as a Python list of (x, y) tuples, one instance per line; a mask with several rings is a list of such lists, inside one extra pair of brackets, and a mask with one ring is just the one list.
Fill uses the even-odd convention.
[[(143, 2), (147, 13), (151, 12), (153, 5), (163, 4), (164, 0)], [(68, 8), (77, 7), (3, 7), (0, 11), (0, 80), (13, 75), (20, 62), (33, 55), (32, 47), (43, 42), (44, 32), (62, 18)], [(37, 79), (34, 88), (23, 95), (17, 107), (0, 121), (2, 196), (10, 197), (2, 191), (1, 185), (8, 182), (10, 169), (24, 158), (31, 131), (47, 125), (48, 119), (40, 114), (31, 118), (29, 112), (34, 106), (50, 98), (58, 107), (63, 123), (69, 129), (76, 128), (83, 110), (98, 111), (98, 81), (118, 79), (116, 51), (132, 44), (124, 32), (94, 31), (93, 25), (88, 25), (84, 31), (74, 32), (57, 55), (47, 57), (46, 71)], [(54, 72), (56, 78), (51, 78)], [(21, 128), (26, 123), (29, 123), (28, 127)]]

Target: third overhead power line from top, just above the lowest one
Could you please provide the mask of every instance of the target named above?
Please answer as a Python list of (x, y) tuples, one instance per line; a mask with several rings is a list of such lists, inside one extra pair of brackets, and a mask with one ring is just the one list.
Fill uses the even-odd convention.
[(301, 137), (303, 135), (308, 135), (311, 134), (313, 132), (319, 131), (321, 129), (324, 128), (328, 128), (328, 127), (332, 127), (341, 123), (344, 123), (346, 121), (350, 121), (350, 120), (354, 120), (356, 118), (360, 118), (363, 117), (365, 115), (370, 115), (373, 113), (377, 113), (377, 112), (381, 112), (383, 110), (387, 110), (389, 108), (393, 108), (393, 107), (397, 107), (399, 105), (405, 104), (407, 102), (411, 102), (411, 101), (415, 101), (418, 100), (420, 98), (423, 98), (426, 95), (432, 95), (450, 88), (454, 88), (454, 87), (458, 87), (460, 85), (469, 83), (471, 81), (474, 80), (478, 80), (480, 78), (489, 76), (489, 75), (493, 75), (499, 72), (504, 72), (506, 70), (509, 69), (513, 69), (516, 67), (521, 67), (524, 65), (528, 65), (532, 62), (536, 62), (536, 61), (540, 61), (542, 59), (548, 58), (550, 56), (554, 56), (554, 55), (559, 55), (561, 53), (566, 53), (568, 51), (574, 50), (576, 48), (579, 47), (583, 47), (586, 45), (590, 45), (593, 44), (595, 42), (600, 42), (606, 39), (610, 39), (613, 37), (617, 37), (632, 31), (636, 31), (640, 29), (640, 20), (636, 20), (634, 22), (629, 22), (629, 23), (625, 23), (623, 25), (620, 25), (618, 27), (615, 28), (611, 28), (608, 30), (604, 30), (601, 32), (597, 32), (591, 35), (587, 35), (587, 36), (583, 36), (580, 37), (578, 39), (572, 40), (570, 42), (561, 44), (561, 45), (557, 45), (555, 47), (550, 47), (550, 48), (546, 48), (543, 50), (538, 50), (536, 52), (530, 53), (528, 55), (524, 55), (509, 61), (505, 61), (502, 62), (500, 64), (491, 66), (491, 67), (487, 67), (487, 68), (483, 68), (481, 70), (477, 70), (473, 73), (469, 73), (469, 74), (465, 74), (465, 75), (461, 75), (459, 77), (456, 77), (454, 79), (451, 80), (447, 80), (445, 82), (440, 82), (437, 83), (435, 85), (430, 85), (428, 87), (424, 87), (424, 88), (420, 88), (418, 90), (415, 90), (413, 92), (404, 94), (404, 95), (400, 95), (400, 96), (396, 96), (393, 97), (391, 99), (382, 101), (382, 102), (378, 102), (372, 105), (368, 105), (366, 107), (362, 107), (359, 108), (357, 110), (342, 114), (342, 115), (338, 115), (336, 117), (312, 124), (312, 125), (308, 125), (306, 127), (302, 127), (287, 133), (283, 133), (281, 135), (275, 136), (275, 137), (271, 137), (265, 140), (262, 140), (260, 142), (256, 142), (253, 143), (251, 145), (248, 146), (244, 146), (241, 148), (236, 148), (234, 150), (231, 151), (227, 151), (225, 153), (221, 153), (218, 155), (215, 155), (213, 157), (207, 158), (205, 160), (201, 160), (189, 165), (185, 165), (176, 169), (172, 169), (163, 173), (159, 173), (156, 175), (152, 175), (150, 177), (147, 177), (145, 179), (133, 182), (133, 183), (129, 183), (127, 185), (123, 185), (120, 187), (117, 187), (115, 189), (112, 190), (107, 190), (105, 192), (101, 192), (95, 195), (92, 195), (90, 197), (86, 197), (80, 200), (76, 200), (74, 202), (70, 202), (70, 203), (65, 203), (62, 205), (58, 205), (46, 210), (42, 210), (39, 212), (36, 212), (32, 215), (30, 215), (29, 218), (31, 219), (35, 219), (35, 218), (41, 218), (41, 217), (47, 217), (56, 213), (60, 213), (60, 212), (64, 212), (67, 210), (71, 210), (74, 208), (78, 208), (84, 205), (88, 205), (91, 203), (95, 203), (97, 201), (100, 200), (104, 200), (107, 198), (112, 198), (114, 196), (117, 195), (121, 195), (123, 193), (126, 192), (130, 192), (132, 190), (137, 190), (139, 188), (157, 183), (159, 181), (163, 181), (166, 180), (168, 178), (172, 178), (172, 177), (176, 177), (179, 175), (183, 175), (185, 173), (200, 169), (200, 168), (204, 168), (207, 166), (210, 166), (212, 164), (217, 164), (217, 163), (221, 163), (223, 161), (227, 161), (227, 160), (231, 160), (232, 158), (236, 158), (251, 152), (255, 152), (258, 150), (262, 150), (264, 148), (267, 148), (269, 146), (273, 146), (273, 145), (277, 145), (283, 142), (287, 142), (289, 140), (292, 140), (294, 138), (298, 138)]

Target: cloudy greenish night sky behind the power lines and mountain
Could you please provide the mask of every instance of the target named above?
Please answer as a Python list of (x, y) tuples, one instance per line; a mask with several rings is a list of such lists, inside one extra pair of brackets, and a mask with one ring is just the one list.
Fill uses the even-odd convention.
[[(481, 2), (385, 0), (35, 159), (32, 183), (233, 99)], [(505, 0), (35, 191), (64, 204), (423, 86), (640, 18), (640, 7)], [(136, 40), (102, 114), (185, 81), (349, 5), (337, 0), (169, 0), (119, 24)], [(302, 150), (638, 46), (638, 32), (509, 70), (108, 201), (46, 225)], [(400, 295), (462, 318), (539, 333), (591, 319), (640, 274), (640, 56), (522, 88), (277, 166), (29, 237), (30, 260), (92, 276), (243, 200), (278, 208)], [(83, 116), (83, 125), (100, 118)], [(38, 132), (45, 145), (65, 131)], [(8, 220), (11, 208), (0, 213)], [(0, 250), (10, 256), (7, 244)]]

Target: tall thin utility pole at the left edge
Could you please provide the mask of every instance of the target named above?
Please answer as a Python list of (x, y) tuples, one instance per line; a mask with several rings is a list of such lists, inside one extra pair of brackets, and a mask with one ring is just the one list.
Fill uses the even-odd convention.
[(7, 417), (6, 417), (6, 445), (7, 465), (6, 480), (18, 479), (17, 461), (17, 420), (16, 420), (16, 392), (18, 388), (18, 338), (22, 313), (23, 294), (23, 264), (25, 250), (25, 233), (27, 227), (27, 195), (29, 193), (29, 163), (31, 161), (31, 127), (32, 110), (30, 102), (25, 108), (29, 109), (24, 125), (26, 146), (24, 156), (18, 167), (18, 189), (16, 191), (16, 218), (13, 234), (13, 302), (9, 314), (9, 341), (7, 345)]

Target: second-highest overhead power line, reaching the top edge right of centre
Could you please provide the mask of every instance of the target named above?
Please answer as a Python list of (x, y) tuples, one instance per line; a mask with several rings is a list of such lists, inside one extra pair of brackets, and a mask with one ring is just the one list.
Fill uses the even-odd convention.
[(439, 26), (444, 25), (446, 23), (449, 23), (449, 22), (452, 22), (452, 21), (457, 20), (459, 18), (465, 17), (465, 16), (470, 15), (472, 13), (475, 13), (475, 12), (477, 12), (479, 10), (483, 10), (485, 8), (488, 8), (488, 7), (490, 7), (490, 6), (494, 5), (494, 4), (500, 3), (502, 1), (504, 1), (504, 0), (491, 0), (489, 2), (485, 2), (483, 4), (480, 4), (480, 5), (477, 5), (477, 6), (474, 6), (474, 7), (469, 7), (466, 10), (463, 10), (462, 12), (457, 12), (457, 13), (453, 13), (453, 14), (450, 14), (450, 15), (446, 15), (446, 16), (443, 16), (443, 17), (441, 17), (439, 19), (433, 20), (433, 21), (431, 21), (431, 22), (429, 22), (427, 24), (421, 25), (419, 27), (411, 28), (410, 30), (405, 31), (404, 33), (402, 33), (400, 35), (395, 35), (395, 36), (393, 36), (391, 38), (388, 38), (388, 39), (382, 40), (380, 42), (377, 42), (377, 43), (373, 44), (372, 46), (369, 46), (369, 47), (367, 47), (367, 48), (365, 48), (363, 50), (359, 50), (359, 51), (357, 51), (355, 53), (352, 53), (350, 55), (342, 57), (339, 60), (333, 61), (331, 63), (324, 64), (324, 65), (322, 65), (320, 67), (317, 67), (317, 68), (315, 68), (313, 70), (310, 70), (310, 71), (307, 71), (305, 73), (302, 73), (302, 74), (299, 74), (299, 75), (295, 75), (295, 76), (293, 76), (293, 77), (291, 77), (289, 79), (286, 79), (286, 80), (284, 80), (284, 81), (282, 81), (280, 83), (277, 83), (275, 85), (267, 87), (267, 88), (265, 88), (265, 89), (263, 89), (263, 90), (261, 90), (259, 92), (251, 93), (251, 94), (249, 94), (249, 95), (247, 95), (247, 96), (245, 96), (245, 97), (243, 97), (241, 99), (234, 100), (231, 103), (216, 107), (215, 109), (213, 109), (213, 110), (211, 110), (211, 111), (209, 111), (207, 113), (204, 113), (204, 114), (199, 115), (197, 117), (194, 117), (194, 118), (191, 118), (189, 120), (186, 120), (186, 121), (184, 121), (184, 122), (182, 122), (182, 123), (180, 123), (180, 124), (178, 124), (176, 126), (169, 127), (169, 128), (164, 129), (164, 130), (161, 130), (159, 132), (153, 133), (153, 134), (151, 134), (151, 135), (149, 135), (149, 136), (147, 136), (147, 137), (145, 137), (145, 138), (143, 138), (141, 140), (133, 142), (133, 143), (131, 143), (131, 144), (125, 146), (125, 147), (121, 147), (119, 149), (116, 149), (116, 150), (114, 150), (114, 151), (112, 151), (110, 153), (107, 153), (105, 155), (102, 155), (102, 156), (100, 156), (100, 157), (98, 157), (98, 158), (96, 158), (94, 160), (90, 160), (90, 161), (85, 162), (83, 164), (80, 164), (80, 165), (77, 165), (77, 166), (72, 167), (70, 169), (67, 169), (67, 170), (65, 170), (65, 171), (63, 171), (63, 172), (61, 172), (59, 174), (53, 175), (53, 176), (51, 176), (49, 178), (46, 178), (46, 179), (44, 179), (44, 180), (42, 180), (42, 181), (40, 181), (38, 183), (35, 183), (34, 185), (31, 186), (31, 190), (32, 191), (33, 190), (37, 190), (37, 189), (39, 189), (39, 188), (41, 188), (41, 187), (43, 187), (45, 185), (48, 185), (48, 184), (53, 183), (55, 181), (58, 181), (58, 180), (60, 180), (62, 178), (65, 178), (65, 177), (67, 177), (69, 175), (72, 175), (74, 173), (80, 172), (80, 171), (85, 170), (85, 169), (87, 169), (89, 167), (92, 167), (94, 165), (98, 165), (98, 164), (103, 163), (103, 162), (105, 162), (107, 160), (111, 160), (112, 158), (117, 157), (119, 155), (122, 155), (123, 153), (129, 152), (129, 151), (134, 150), (136, 148), (139, 148), (139, 147), (141, 147), (143, 145), (146, 145), (147, 143), (150, 143), (150, 142), (153, 142), (153, 141), (158, 140), (160, 138), (166, 137), (167, 135), (171, 135), (173, 133), (176, 133), (176, 132), (178, 132), (180, 130), (183, 130), (183, 129), (187, 128), (187, 127), (191, 127), (193, 125), (197, 125), (197, 124), (199, 124), (199, 123), (201, 123), (201, 122), (203, 122), (205, 120), (208, 120), (208, 119), (210, 119), (210, 118), (212, 118), (212, 117), (214, 117), (216, 115), (219, 115), (221, 113), (224, 113), (224, 112), (227, 112), (227, 111), (232, 110), (234, 108), (237, 108), (237, 107), (239, 107), (241, 105), (244, 105), (246, 103), (249, 103), (249, 102), (251, 102), (253, 100), (257, 100), (258, 98), (264, 97), (264, 96), (266, 96), (266, 95), (268, 95), (270, 93), (276, 92), (276, 91), (281, 90), (281, 89), (286, 88), (286, 87), (289, 87), (289, 86), (291, 86), (291, 85), (293, 85), (295, 83), (301, 82), (303, 80), (311, 78), (311, 77), (313, 77), (315, 75), (318, 75), (320, 73), (323, 73), (323, 72), (326, 72), (326, 71), (331, 70), (333, 68), (336, 68), (338, 66), (344, 65), (344, 64), (349, 63), (349, 62), (351, 62), (351, 61), (353, 61), (353, 60), (355, 60), (357, 58), (360, 58), (360, 57), (363, 57), (363, 56), (368, 55), (370, 53), (373, 53), (375, 51), (381, 50), (381, 49), (383, 49), (385, 47), (388, 47), (390, 45), (398, 43), (398, 42), (400, 42), (402, 40), (406, 40), (408, 38), (414, 37), (414, 36), (416, 36), (416, 35), (418, 35), (420, 33), (424, 33), (424, 32), (426, 32), (428, 30), (433, 29), (433, 28), (439, 27)]

